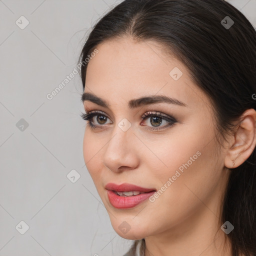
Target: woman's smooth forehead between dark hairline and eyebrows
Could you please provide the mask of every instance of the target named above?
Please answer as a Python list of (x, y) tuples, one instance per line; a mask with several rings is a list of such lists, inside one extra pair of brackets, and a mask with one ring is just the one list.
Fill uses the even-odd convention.
[(87, 66), (84, 91), (109, 101), (164, 94), (190, 106), (209, 104), (185, 65), (157, 42), (134, 42), (123, 37), (96, 48), (98, 53)]

